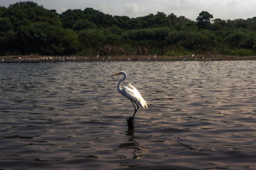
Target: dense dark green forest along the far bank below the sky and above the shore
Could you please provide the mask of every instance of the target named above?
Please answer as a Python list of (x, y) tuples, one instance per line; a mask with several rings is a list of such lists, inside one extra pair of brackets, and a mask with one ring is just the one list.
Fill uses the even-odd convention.
[(0, 55), (255, 55), (256, 17), (192, 21), (174, 13), (112, 16), (92, 8), (58, 14), (32, 1), (0, 7)]

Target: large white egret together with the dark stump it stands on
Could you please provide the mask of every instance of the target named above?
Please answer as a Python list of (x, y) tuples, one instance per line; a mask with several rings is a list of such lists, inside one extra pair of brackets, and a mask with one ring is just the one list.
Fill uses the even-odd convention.
[[(129, 126), (129, 123), (133, 124), (134, 115), (138, 111), (139, 107), (141, 106), (142, 108), (145, 108), (145, 107), (148, 108), (148, 106), (147, 106), (147, 102), (142, 98), (139, 91), (135, 87), (133, 87), (131, 84), (128, 84), (128, 87), (124, 86), (124, 88), (121, 89), (121, 83), (126, 80), (127, 74), (124, 71), (120, 71), (118, 73), (112, 74), (111, 76), (118, 75), (118, 74), (122, 74), (124, 76), (124, 78), (119, 80), (118, 85), (117, 85), (117, 91), (121, 95), (123, 95), (127, 99), (129, 99), (132, 102), (133, 107), (135, 109), (133, 116), (130, 117), (130, 118), (127, 118), (127, 123), (128, 123), (128, 126)], [(134, 103), (138, 106), (137, 109), (134, 106)]]

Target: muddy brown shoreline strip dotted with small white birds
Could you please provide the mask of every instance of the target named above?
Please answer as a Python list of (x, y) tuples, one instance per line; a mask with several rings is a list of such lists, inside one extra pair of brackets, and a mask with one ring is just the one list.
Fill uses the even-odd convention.
[(165, 56), (156, 58), (150, 55), (121, 55), (121, 56), (53, 56), (53, 55), (11, 55), (0, 56), (0, 62), (63, 62), (63, 61), (176, 61), (176, 60), (255, 60), (256, 56), (230, 56), (230, 55), (192, 55)]

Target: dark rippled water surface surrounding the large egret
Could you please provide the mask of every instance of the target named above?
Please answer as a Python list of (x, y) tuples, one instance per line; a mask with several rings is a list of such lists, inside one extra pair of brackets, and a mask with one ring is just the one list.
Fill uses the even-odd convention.
[[(133, 84), (149, 103), (126, 127)], [(256, 61), (0, 63), (0, 169), (256, 169)]]

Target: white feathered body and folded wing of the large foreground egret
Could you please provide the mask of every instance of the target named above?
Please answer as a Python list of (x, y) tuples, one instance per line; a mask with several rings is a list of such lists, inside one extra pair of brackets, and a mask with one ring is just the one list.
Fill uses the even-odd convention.
[(124, 96), (129, 100), (138, 103), (143, 108), (148, 108), (147, 102), (142, 98), (139, 91), (133, 87), (131, 84), (128, 84), (129, 87), (124, 87)]

